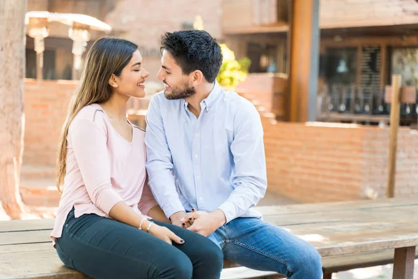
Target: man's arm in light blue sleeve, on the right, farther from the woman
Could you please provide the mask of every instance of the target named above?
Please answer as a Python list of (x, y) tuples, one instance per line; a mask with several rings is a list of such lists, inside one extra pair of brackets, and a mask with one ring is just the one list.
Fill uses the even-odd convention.
[(235, 189), (219, 206), (226, 222), (241, 216), (264, 197), (267, 189), (263, 126), (254, 105), (245, 100), (235, 115), (231, 153), (235, 163)]

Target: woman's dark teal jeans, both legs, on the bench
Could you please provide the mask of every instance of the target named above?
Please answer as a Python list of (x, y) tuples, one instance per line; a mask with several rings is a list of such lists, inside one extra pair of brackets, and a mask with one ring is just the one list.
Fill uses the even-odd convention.
[(215, 279), (222, 271), (219, 248), (206, 237), (175, 225), (185, 243), (170, 245), (139, 229), (95, 214), (68, 213), (56, 252), (66, 266), (92, 278)]

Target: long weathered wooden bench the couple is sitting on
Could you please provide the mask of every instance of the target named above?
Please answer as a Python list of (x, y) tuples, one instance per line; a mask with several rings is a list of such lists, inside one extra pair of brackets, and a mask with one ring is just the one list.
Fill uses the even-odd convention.
[[(324, 279), (360, 267), (395, 263), (394, 278), (412, 279), (418, 243), (418, 198), (262, 206), (266, 221), (312, 243), (323, 256)], [(86, 278), (60, 262), (49, 239), (53, 220), (0, 222), (0, 278)], [(394, 252), (396, 251), (396, 252)], [(226, 261), (224, 268), (237, 266)], [(267, 278), (238, 268), (222, 278)]]

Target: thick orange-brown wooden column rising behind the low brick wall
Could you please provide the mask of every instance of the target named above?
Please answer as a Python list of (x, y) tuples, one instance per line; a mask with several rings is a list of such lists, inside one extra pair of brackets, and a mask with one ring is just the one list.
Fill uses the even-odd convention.
[(292, 0), (290, 12), (288, 119), (291, 122), (315, 121), (319, 0)]

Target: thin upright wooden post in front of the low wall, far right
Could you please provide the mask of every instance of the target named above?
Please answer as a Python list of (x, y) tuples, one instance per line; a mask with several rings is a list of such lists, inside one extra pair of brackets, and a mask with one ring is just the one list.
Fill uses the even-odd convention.
[(396, 146), (401, 112), (401, 75), (392, 75), (392, 102), (390, 106), (389, 171), (387, 177), (387, 197), (394, 197), (396, 174)]

